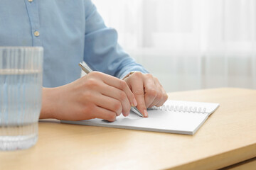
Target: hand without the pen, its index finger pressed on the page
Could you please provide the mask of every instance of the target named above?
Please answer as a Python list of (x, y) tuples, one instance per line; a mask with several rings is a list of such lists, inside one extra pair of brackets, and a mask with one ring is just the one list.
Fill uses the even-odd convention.
[(148, 116), (146, 108), (162, 106), (168, 98), (163, 86), (151, 74), (134, 72), (124, 78), (124, 81), (127, 82), (129, 89), (134, 94), (138, 103), (137, 108), (144, 117)]

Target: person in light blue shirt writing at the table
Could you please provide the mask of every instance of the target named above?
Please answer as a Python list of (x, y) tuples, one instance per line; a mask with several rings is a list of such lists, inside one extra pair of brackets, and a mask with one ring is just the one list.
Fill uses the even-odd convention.
[[(44, 48), (40, 118), (114, 121), (137, 106), (161, 106), (159, 81), (122, 50), (90, 0), (2, 0), (0, 46)], [(93, 70), (80, 78), (78, 63)], [(134, 72), (137, 71), (137, 72)]]

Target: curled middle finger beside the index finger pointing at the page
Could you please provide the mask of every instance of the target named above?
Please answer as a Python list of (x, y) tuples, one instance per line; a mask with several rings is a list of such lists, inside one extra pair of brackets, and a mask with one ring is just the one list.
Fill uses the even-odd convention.
[(148, 108), (155, 101), (157, 96), (156, 84), (154, 82), (154, 79), (152, 77), (147, 77), (146, 79), (144, 79), (144, 86), (145, 104), (146, 108)]

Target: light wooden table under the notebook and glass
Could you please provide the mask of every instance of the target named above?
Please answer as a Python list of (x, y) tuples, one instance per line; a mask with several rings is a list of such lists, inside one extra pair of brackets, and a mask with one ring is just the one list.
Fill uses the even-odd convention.
[(0, 152), (0, 169), (256, 167), (255, 90), (183, 91), (170, 93), (169, 98), (215, 102), (220, 103), (220, 107), (193, 136), (43, 120), (39, 123), (36, 146), (15, 152)]

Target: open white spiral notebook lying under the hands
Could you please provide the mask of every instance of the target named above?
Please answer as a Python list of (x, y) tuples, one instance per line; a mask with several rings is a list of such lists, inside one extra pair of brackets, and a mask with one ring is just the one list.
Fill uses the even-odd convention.
[(61, 120), (61, 122), (193, 135), (218, 106), (218, 103), (168, 100), (161, 107), (148, 108), (149, 118), (142, 118), (131, 111), (127, 117), (119, 115), (114, 122), (97, 118), (82, 121)]

